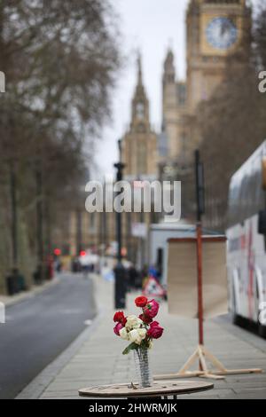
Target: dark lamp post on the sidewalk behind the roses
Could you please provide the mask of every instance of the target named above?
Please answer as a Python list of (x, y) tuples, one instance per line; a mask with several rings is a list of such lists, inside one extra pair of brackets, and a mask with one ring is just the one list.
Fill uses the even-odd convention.
[[(122, 180), (122, 172), (125, 165), (121, 162), (121, 139), (118, 141), (119, 161), (113, 166), (117, 169), (116, 181)], [(117, 240), (117, 263), (114, 268), (114, 305), (115, 309), (124, 309), (126, 306), (126, 270), (122, 264), (121, 248), (122, 248), (122, 223), (121, 213), (116, 213), (116, 240)]]

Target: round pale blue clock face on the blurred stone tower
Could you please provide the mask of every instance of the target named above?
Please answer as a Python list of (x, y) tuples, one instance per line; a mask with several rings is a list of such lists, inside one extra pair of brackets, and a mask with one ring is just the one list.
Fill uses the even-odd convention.
[(219, 50), (227, 50), (238, 39), (238, 29), (228, 18), (215, 18), (206, 29), (207, 42)]

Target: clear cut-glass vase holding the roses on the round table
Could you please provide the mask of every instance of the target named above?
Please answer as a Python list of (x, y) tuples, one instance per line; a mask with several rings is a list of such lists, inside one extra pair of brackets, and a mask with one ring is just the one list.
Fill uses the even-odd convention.
[(151, 387), (153, 385), (153, 374), (150, 369), (149, 350), (147, 348), (135, 349), (134, 361), (138, 386), (140, 388)]

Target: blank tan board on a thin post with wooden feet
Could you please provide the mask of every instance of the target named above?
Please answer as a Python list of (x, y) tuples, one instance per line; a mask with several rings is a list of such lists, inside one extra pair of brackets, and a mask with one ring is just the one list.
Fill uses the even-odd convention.
[[(228, 312), (226, 240), (202, 239), (202, 296), (204, 318)], [(168, 242), (168, 311), (181, 317), (198, 317), (197, 243), (195, 239)]]

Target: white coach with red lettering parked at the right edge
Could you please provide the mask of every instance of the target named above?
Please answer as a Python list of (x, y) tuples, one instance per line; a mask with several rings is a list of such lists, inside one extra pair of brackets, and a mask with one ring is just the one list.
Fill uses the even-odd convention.
[[(231, 177), (228, 201), (228, 277), (235, 324), (266, 323), (266, 141)], [(260, 318), (260, 319), (259, 319)]]

